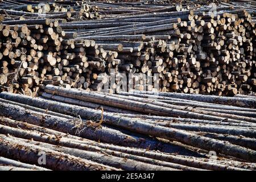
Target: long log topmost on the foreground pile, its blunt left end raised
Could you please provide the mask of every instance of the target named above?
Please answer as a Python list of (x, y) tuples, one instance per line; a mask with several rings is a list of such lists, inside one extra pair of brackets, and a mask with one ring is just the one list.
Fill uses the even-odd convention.
[[(89, 102), (94, 102), (94, 103), (104, 104), (109, 106), (114, 105), (115, 107), (119, 107), (122, 109), (140, 111), (146, 114), (175, 116), (175, 117), (191, 117), (196, 119), (201, 118), (201, 119), (209, 119), (209, 120), (215, 120), (215, 121), (221, 121), (225, 119), (225, 118), (217, 117), (213, 115), (194, 113), (193, 111), (178, 110), (173, 108), (169, 109), (168, 107), (158, 106), (154, 104), (131, 101), (128, 99), (117, 98), (113, 96), (106, 96), (106, 95), (102, 95), (100, 93), (95, 93), (95, 92), (84, 92), (84, 91), (74, 90), (74, 89), (73, 90), (65, 89), (65, 88), (60, 88), (53, 85), (47, 85), (45, 88), (45, 91), (47, 93), (57, 94), (63, 97), (69, 97), (77, 100), (89, 101)], [(236, 119), (230, 119), (230, 120), (236, 121)], [(251, 121), (251, 118), (250, 118), (250, 121)]]

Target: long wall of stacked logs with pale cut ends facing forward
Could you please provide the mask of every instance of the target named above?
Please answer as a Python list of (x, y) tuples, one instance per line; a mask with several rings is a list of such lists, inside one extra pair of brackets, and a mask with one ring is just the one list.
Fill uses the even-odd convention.
[[(85, 7), (60, 3), (73, 9)], [(88, 7), (98, 4), (88, 2)], [(106, 6), (116, 11), (115, 3), (106, 4), (98, 8)], [(130, 3), (120, 6), (133, 10)], [(148, 7), (137, 5), (134, 9), (140, 6)], [(38, 13), (7, 10), (6, 6), (0, 11), (31, 17), (2, 22), (1, 88), (32, 96), (37, 96), (46, 84), (101, 90), (99, 80), (108, 79), (100, 73), (108, 77), (113, 69), (126, 75), (145, 73), (153, 77), (158, 73), (156, 82), (161, 92), (220, 96), (253, 93), (254, 16), (226, 3), (216, 10), (213, 14), (209, 6), (152, 6), (150, 11), (124, 11), (113, 18), (63, 23), (61, 18), (65, 17), (51, 11), (45, 14), (47, 19), (32, 19)], [(72, 11), (64, 14), (69, 13)], [(6, 18), (6, 14), (3, 16)], [(138, 80), (139, 76), (134, 77)], [(117, 84), (108, 91), (119, 91)], [(133, 88), (156, 91), (141, 81)]]

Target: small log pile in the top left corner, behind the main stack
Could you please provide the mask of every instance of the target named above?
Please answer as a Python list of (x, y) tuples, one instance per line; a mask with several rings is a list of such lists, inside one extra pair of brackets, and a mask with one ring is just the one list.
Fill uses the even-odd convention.
[(11, 1), (1, 2), (1, 18), (5, 20), (24, 20), (31, 18), (62, 19), (63, 22), (97, 19), (98, 7), (84, 1), (42, 2)]

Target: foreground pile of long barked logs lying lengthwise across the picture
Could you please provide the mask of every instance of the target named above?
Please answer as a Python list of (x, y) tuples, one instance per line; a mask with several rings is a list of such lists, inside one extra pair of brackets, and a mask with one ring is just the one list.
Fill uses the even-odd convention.
[(216, 97), (52, 85), (40, 98), (2, 92), (0, 168), (18, 160), (44, 170), (255, 170), (255, 97)]

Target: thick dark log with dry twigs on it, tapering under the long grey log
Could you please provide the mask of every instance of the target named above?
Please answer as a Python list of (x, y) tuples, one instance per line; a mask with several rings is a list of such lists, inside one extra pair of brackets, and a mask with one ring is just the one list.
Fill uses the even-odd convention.
[[(137, 137), (136, 134), (127, 135), (122, 131), (111, 129), (109, 127), (98, 126), (97, 124), (95, 125), (90, 121), (85, 122), (80, 119), (65, 119), (44, 113), (38, 113), (32, 110), (26, 110), (19, 106), (16, 106), (15, 108), (10, 104), (0, 103), (0, 105), (0, 115), (2, 116), (11, 117), (18, 121), (28, 122), (33, 125), (49, 127), (53, 130), (62, 131), (64, 133), (79, 135), (83, 138), (93, 139), (96, 141), (100, 140), (101, 142), (119, 144), (121, 146), (150, 148), (151, 150), (160, 150), (163, 152), (182, 151), (181, 147), (175, 146), (173, 144), (166, 144), (154, 139)], [(64, 113), (67, 114), (66, 111), (64, 111)], [(76, 113), (73, 111), (71, 113), (76, 115)], [(80, 115), (80, 117), (82, 117), (82, 115)], [(93, 118), (94, 121), (97, 121), (97, 118), (94, 117), (95, 116), (93, 114), (90, 115), (90, 118)]]

